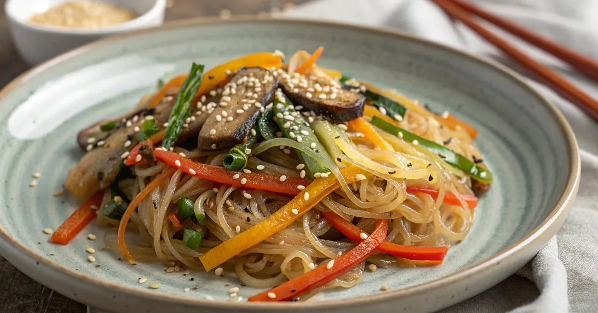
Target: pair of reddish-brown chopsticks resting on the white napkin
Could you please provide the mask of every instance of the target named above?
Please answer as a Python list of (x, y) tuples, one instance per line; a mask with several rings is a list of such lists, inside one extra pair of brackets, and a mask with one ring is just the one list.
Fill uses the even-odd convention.
[(481, 17), (496, 26), (499, 26), (505, 31), (510, 32), (521, 39), (526, 40), (530, 44), (547, 51), (553, 56), (569, 63), (577, 71), (586, 75), (587, 77), (593, 78), (598, 81), (598, 62), (591, 59), (590, 57), (583, 56), (576, 51), (570, 50), (562, 45), (559, 45), (553, 41), (543, 38), (533, 32), (527, 31), (527, 29), (516, 25), (515, 23), (509, 22), (508, 20), (502, 19), (501, 17), (495, 16), (492, 13), (484, 11), (483, 9), (463, 2), (461, 0), (431, 0), (441, 7), (449, 16), (454, 19), (460, 20), (466, 26), (477, 32), (481, 37), (486, 38), (492, 44), (496, 45), (505, 54), (507, 54), (515, 63), (535, 75), (539, 81), (546, 84), (548, 87), (553, 89), (563, 98), (568, 99), (573, 104), (585, 111), (589, 116), (593, 117), (594, 120), (598, 121), (598, 102), (582, 92), (569, 81), (565, 80), (561, 75), (557, 74), (550, 68), (538, 61), (527, 56), (527, 54), (515, 48), (504, 39), (499, 38), (493, 32), (484, 28), (480, 23), (476, 22), (473, 15)]

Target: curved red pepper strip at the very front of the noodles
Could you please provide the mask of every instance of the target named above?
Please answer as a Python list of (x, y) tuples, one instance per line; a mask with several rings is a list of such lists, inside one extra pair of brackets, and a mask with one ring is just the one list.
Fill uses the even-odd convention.
[(374, 232), (368, 236), (368, 238), (360, 242), (351, 251), (343, 254), (335, 260), (331, 260), (330, 263), (318, 266), (318, 268), (298, 276), (297, 278), (291, 279), (282, 285), (278, 285), (277, 287), (271, 288), (268, 291), (264, 291), (263, 293), (249, 297), (248, 300), (289, 300), (298, 294), (304, 293), (305, 291), (325, 285), (332, 279), (337, 278), (344, 272), (349, 271), (349, 269), (353, 268), (353, 266), (356, 266), (360, 262), (363, 262), (365, 259), (367, 259), (367, 257), (370, 256), (374, 250), (376, 250), (376, 247), (378, 247), (380, 243), (384, 241), (387, 231), (388, 221), (378, 220), (376, 222), (376, 230), (374, 230)]

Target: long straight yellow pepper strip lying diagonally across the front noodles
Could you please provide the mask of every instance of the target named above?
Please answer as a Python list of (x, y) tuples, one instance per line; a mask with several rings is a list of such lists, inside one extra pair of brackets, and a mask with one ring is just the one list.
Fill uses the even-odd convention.
[[(347, 184), (357, 181), (355, 175), (362, 174), (365, 177), (370, 177), (372, 174), (360, 168), (347, 166), (340, 169), (341, 174)], [(241, 251), (250, 248), (264, 239), (274, 235), (285, 227), (292, 224), (301, 215), (308, 212), (314, 205), (318, 204), (325, 196), (340, 187), (340, 183), (336, 177), (317, 178), (305, 190), (300, 192), (285, 206), (280, 208), (274, 214), (270, 215), (265, 220), (261, 221), (254, 227), (251, 227), (245, 232), (228, 239), (222, 244), (209, 250), (206, 254), (201, 256), (199, 260), (203, 263), (206, 271), (210, 271), (218, 265), (226, 262), (231, 257), (241, 253)], [(293, 209), (297, 209), (297, 214), (293, 213)]]

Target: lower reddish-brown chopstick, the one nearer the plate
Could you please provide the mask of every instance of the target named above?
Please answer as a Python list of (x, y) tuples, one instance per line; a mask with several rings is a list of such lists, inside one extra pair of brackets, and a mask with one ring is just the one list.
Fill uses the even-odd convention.
[(585, 113), (598, 121), (598, 102), (586, 95), (577, 87), (573, 86), (573, 84), (569, 83), (569, 81), (565, 80), (565, 78), (527, 56), (525, 53), (509, 44), (507, 41), (504, 41), (484, 28), (484, 26), (481, 26), (475, 22), (475, 20), (467, 11), (458, 7), (456, 4), (451, 2), (451, 0), (431, 1), (434, 1), (436, 4), (438, 4), (447, 14), (449, 14), (449, 16), (460, 20), (473, 31), (492, 42), (492, 44), (500, 48), (518, 65), (534, 74), (538, 80), (542, 81), (542, 83), (559, 93), (559, 95), (563, 96), (563, 98), (568, 99), (570, 102), (577, 105), (579, 108), (584, 110)]

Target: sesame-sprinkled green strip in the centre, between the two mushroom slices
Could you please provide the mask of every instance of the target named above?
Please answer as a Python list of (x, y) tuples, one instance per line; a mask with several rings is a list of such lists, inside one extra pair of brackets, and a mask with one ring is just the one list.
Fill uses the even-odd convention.
[[(324, 146), (318, 141), (316, 135), (313, 134), (309, 124), (303, 119), (303, 116), (301, 116), (301, 113), (295, 111), (294, 108), (289, 106), (291, 102), (289, 102), (286, 97), (283, 96), (283, 99), (285, 102), (280, 102), (278, 96), (276, 99), (274, 99), (274, 117), (276, 117), (276, 123), (278, 126), (280, 126), (280, 129), (282, 129), (282, 133), (285, 138), (289, 138), (297, 142), (299, 141), (299, 138), (301, 138), (301, 145), (307, 149), (313, 150), (315, 153), (318, 153), (322, 159), (327, 160), (329, 163), (334, 163), (332, 161), (332, 157), (328, 155)], [(282, 117), (280, 117), (281, 115)], [(285, 118), (286, 116), (289, 117)], [(293, 126), (296, 126), (296, 128), (293, 129)], [(296, 151), (301, 163), (305, 164), (306, 172), (312, 180), (315, 178), (314, 175), (316, 173), (329, 172), (329, 169), (319, 160), (307, 156), (307, 154), (303, 153), (302, 151)]]

